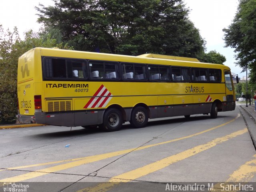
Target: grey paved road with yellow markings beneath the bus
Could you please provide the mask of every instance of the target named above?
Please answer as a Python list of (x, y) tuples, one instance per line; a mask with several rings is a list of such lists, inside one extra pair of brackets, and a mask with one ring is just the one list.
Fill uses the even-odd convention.
[(216, 119), (154, 119), (140, 129), (126, 123), (118, 132), (58, 126), (0, 130), (0, 183), (5, 183), (0, 186), (112, 192), (202, 184), (204, 191), (218, 191), (221, 182), (256, 182), (256, 152), (245, 124), (250, 117), (241, 113), (236, 108)]

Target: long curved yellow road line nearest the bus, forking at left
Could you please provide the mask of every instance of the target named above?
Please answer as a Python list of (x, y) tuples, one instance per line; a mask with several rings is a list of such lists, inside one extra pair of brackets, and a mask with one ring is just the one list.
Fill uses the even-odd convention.
[(126, 154), (126, 153), (129, 153), (129, 152), (132, 152), (132, 151), (143, 150), (143, 149), (150, 148), (150, 147), (153, 147), (153, 146), (158, 146), (158, 145), (167, 144), (167, 143), (170, 143), (170, 142), (183, 140), (183, 139), (190, 138), (190, 137), (193, 137), (193, 136), (197, 136), (197, 135), (209, 132), (211, 130), (214, 130), (216, 128), (225, 126), (226, 124), (229, 124), (229, 123), (233, 122), (235, 119), (239, 118), (239, 115), (240, 114), (238, 114), (238, 116), (236, 118), (230, 120), (229, 122), (223, 123), (223, 124), (215, 126), (213, 128), (210, 128), (210, 129), (207, 129), (207, 130), (204, 130), (204, 131), (201, 131), (201, 132), (189, 135), (189, 136), (184, 136), (184, 137), (181, 137), (181, 138), (176, 138), (176, 139), (165, 141), (165, 142), (146, 145), (146, 146), (142, 146), (142, 147), (138, 147), (138, 148), (130, 148), (130, 149), (127, 149), (127, 150), (121, 150), (121, 151), (117, 151), (117, 152), (110, 152), (110, 153), (106, 153), (106, 154), (100, 154), (100, 155), (70, 159), (70, 160), (62, 160), (62, 161), (48, 162), (48, 163), (42, 163), (42, 164), (33, 164), (33, 165), (28, 165), (28, 166), (19, 166), (19, 167), (7, 168), (6, 170), (14, 170), (14, 169), (19, 169), (19, 168), (28, 168), (28, 167), (34, 167), (34, 166), (42, 166), (42, 165), (56, 164), (56, 163), (61, 163), (61, 162), (72, 161), (72, 162), (69, 162), (69, 163), (66, 163), (66, 164), (52, 166), (52, 167), (49, 167), (49, 168), (44, 168), (44, 169), (36, 170), (34, 172), (29, 172), (29, 173), (26, 173), (26, 174), (22, 174), (22, 175), (19, 175), (19, 176), (14, 176), (14, 177), (11, 177), (11, 178), (2, 179), (2, 180), (0, 180), (0, 182), (20, 182), (20, 181), (28, 180), (28, 179), (35, 178), (35, 177), (38, 177), (38, 176), (42, 176), (42, 175), (45, 175), (45, 174), (49, 174), (49, 173), (52, 173), (52, 172), (57, 172), (57, 171), (60, 171), (60, 170), (65, 170), (65, 169), (68, 169), (68, 168), (80, 166), (82, 164), (96, 162), (96, 161), (103, 160), (103, 159), (106, 159), (106, 158), (111, 158), (111, 157), (114, 157), (114, 156)]

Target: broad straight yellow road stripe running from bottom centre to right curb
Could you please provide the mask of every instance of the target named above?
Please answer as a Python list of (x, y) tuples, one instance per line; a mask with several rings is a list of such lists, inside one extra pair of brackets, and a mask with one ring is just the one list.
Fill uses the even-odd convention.
[(119, 185), (121, 182), (129, 182), (131, 180), (135, 180), (137, 178), (140, 178), (140, 177), (150, 174), (152, 172), (158, 171), (162, 168), (169, 166), (170, 164), (173, 164), (180, 160), (184, 160), (188, 157), (194, 156), (195, 154), (198, 154), (202, 151), (210, 149), (210, 148), (216, 146), (217, 144), (225, 142), (225, 141), (227, 141), (231, 138), (234, 138), (236, 136), (242, 135), (246, 132), (247, 132), (247, 128), (244, 128), (243, 130), (233, 132), (224, 137), (216, 138), (206, 144), (198, 145), (194, 148), (185, 150), (176, 155), (169, 156), (167, 158), (158, 160), (158, 161), (148, 164), (146, 166), (143, 166), (143, 167), (134, 169), (132, 171), (120, 174), (118, 176), (112, 177), (107, 183), (98, 184), (97, 186), (91, 187), (91, 188), (85, 188), (85, 189), (79, 190), (78, 192), (83, 192), (83, 191), (106, 192), (106, 191), (110, 190), (111, 188), (113, 188), (114, 186)]

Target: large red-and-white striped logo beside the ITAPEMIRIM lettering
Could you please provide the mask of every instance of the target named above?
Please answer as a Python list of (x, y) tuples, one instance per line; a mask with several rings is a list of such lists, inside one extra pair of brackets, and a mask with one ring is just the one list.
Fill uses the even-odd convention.
[(95, 108), (97, 107), (106, 107), (106, 105), (112, 99), (112, 94), (108, 91), (108, 89), (102, 84), (100, 88), (95, 92), (95, 94), (90, 98), (88, 103), (84, 106), (86, 108)]

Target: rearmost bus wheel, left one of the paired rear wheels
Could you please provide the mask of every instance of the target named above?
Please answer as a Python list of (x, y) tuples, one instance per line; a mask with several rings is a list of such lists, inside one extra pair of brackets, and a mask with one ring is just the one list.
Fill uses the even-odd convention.
[(122, 127), (122, 122), (122, 112), (117, 108), (110, 108), (104, 113), (100, 128), (107, 132), (118, 131)]

